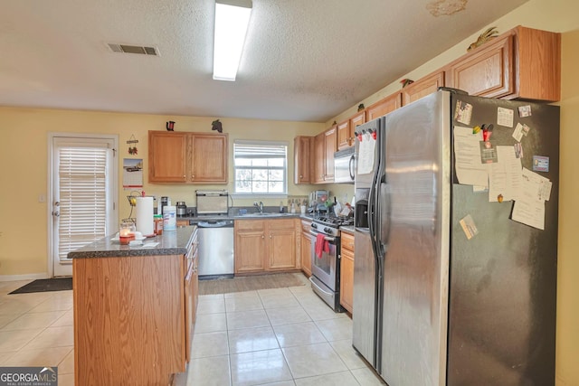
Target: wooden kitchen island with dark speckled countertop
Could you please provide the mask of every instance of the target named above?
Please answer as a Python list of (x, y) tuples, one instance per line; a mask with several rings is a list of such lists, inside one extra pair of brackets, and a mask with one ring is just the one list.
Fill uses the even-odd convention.
[(198, 292), (196, 237), (191, 226), (140, 246), (107, 237), (69, 253), (75, 384), (166, 385), (185, 371)]

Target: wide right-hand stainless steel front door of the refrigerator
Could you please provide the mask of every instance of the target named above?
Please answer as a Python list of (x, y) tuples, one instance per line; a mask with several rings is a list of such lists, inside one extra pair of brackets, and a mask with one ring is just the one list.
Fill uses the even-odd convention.
[(389, 208), (379, 211), (387, 237), (381, 240), (387, 251), (379, 373), (391, 386), (446, 382), (450, 123), (448, 92), (386, 116), (387, 186), (381, 191), (387, 197), (379, 202)]

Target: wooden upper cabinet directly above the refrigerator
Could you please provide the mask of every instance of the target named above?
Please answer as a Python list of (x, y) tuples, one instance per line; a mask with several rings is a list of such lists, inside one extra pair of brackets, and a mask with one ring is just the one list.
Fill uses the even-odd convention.
[(518, 26), (448, 66), (448, 85), (470, 95), (557, 101), (561, 35)]

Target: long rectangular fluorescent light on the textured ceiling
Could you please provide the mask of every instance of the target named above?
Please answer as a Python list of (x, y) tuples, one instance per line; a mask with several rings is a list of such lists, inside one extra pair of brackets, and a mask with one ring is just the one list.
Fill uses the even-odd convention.
[(215, 2), (214, 80), (235, 80), (251, 15), (251, 0)]

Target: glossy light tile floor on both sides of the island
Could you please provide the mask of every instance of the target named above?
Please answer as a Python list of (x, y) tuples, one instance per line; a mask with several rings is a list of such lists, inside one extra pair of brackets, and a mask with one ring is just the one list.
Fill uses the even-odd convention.
[[(73, 385), (72, 291), (7, 295), (28, 282), (0, 282), (0, 366), (58, 366)], [(309, 286), (201, 296), (197, 313), (187, 386), (383, 384), (352, 348), (352, 320)]]

